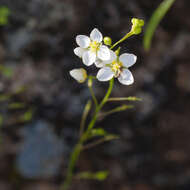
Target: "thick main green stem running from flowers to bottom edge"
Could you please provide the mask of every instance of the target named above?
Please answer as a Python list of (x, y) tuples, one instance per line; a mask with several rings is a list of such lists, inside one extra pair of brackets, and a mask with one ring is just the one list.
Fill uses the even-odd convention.
[(106, 95), (104, 96), (104, 98), (101, 101), (100, 105), (98, 105), (96, 107), (95, 113), (93, 115), (92, 120), (90, 121), (90, 123), (88, 125), (87, 131), (80, 137), (79, 143), (74, 147), (74, 150), (73, 150), (73, 152), (71, 154), (71, 158), (70, 158), (70, 161), (69, 161), (69, 166), (68, 166), (66, 179), (65, 179), (64, 183), (61, 185), (60, 190), (67, 190), (68, 187), (71, 184), (72, 178), (73, 178), (73, 170), (74, 170), (76, 162), (77, 162), (77, 160), (79, 158), (79, 155), (80, 155), (80, 153), (82, 151), (82, 145), (83, 145), (84, 141), (86, 140), (86, 138), (88, 137), (91, 129), (94, 127), (99, 111), (104, 106), (104, 104), (107, 102), (107, 100), (108, 100), (108, 98), (109, 98), (109, 96), (110, 96), (110, 94), (112, 92), (113, 84), (114, 84), (114, 78), (110, 80), (109, 88), (107, 90)]

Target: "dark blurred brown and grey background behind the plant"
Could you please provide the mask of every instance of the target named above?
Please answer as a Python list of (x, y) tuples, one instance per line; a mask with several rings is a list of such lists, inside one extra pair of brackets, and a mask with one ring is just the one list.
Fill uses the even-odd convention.
[[(90, 98), (86, 85), (69, 76), (83, 66), (73, 54), (76, 35), (97, 27), (116, 42), (130, 30), (132, 17), (147, 23), (161, 2), (0, 0), (0, 190), (58, 189)], [(76, 171), (108, 170), (108, 178), (75, 180), (71, 189), (190, 189), (189, 12), (188, 0), (176, 1), (149, 52), (143, 33), (121, 45), (138, 57), (131, 68), (135, 83), (116, 81), (112, 95), (143, 101), (99, 121), (120, 139), (80, 157)], [(98, 99), (107, 86), (95, 83)]]

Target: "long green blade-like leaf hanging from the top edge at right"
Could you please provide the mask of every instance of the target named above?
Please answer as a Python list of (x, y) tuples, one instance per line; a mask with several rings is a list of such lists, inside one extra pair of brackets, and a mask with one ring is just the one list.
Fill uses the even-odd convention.
[(174, 2), (175, 0), (164, 0), (152, 14), (152, 17), (150, 18), (147, 24), (145, 35), (143, 38), (143, 45), (146, 51), (150, 49), (152, 37), (156, 30), (156, 27), (158, 26), (158, 24), (160, 23), (160, 21), (168, 12), (168, 10)]

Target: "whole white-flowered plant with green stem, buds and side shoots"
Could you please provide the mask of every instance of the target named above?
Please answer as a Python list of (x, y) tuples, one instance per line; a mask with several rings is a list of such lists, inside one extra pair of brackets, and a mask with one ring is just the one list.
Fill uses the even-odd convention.
[[(136, 97), (110, 98), (110, 95), (113, 89), (114, 78), (118, 78), (118, 81), (123, 85), (133, 84), (134, 78), (128, 68), (133, 66), (137, 60), (137, 56), (135, 56), (134, 54), (123, 53), (120, 55), (120, 47), (117, 48), (115, 51), (113, 51), (113, 49), (130, 36), (141, 33), (143, 25), (143, 20), (133, 18), (131, 31), (113, 45), (111, 38), (103, 38), (101, 32), (96, 28), (93, 29), (90, 33), (90, 37), (86, 35), (78, 35), (76, 37), (76, 43), (79, 47), (74, 49), (75, 55), (81, 58), (82, 62), (86, 66), (91, 66), (95, 64), (95, 66), (99, 68), (99, 71), (97, 72), (96, 76), (88, 75), (87, 71), (84, 68), (73, 69), (70, 71), (70, 75), (79, 83), (83, 83), (86, 80), (88, 80), (87, 84), (92, 96), (92, 101), (94, 102), (95, 109), (91, 121), (89, 122), (87, 127), (85, 127), (86, 118), (88, 116), (89, 111), (92, 108), (92, 101), (89, 100), (84, 108), (84, 112), (81, 119), (79, 141), (74, 147), (73, 152), (71, 154), (66, 178), (64, 183), (61, 185), (60, 190), (66, 190), (70, 186), (74, 176), (74, 167), (76, 165), (80, 153), (83, 150), (89, 147), (93, 147), (102, 142), (117, 138), (116, 135), (108, 134), (102, 128), (95, 128), (96, 121), (99, 117), (99, 112), (101, 111), (103, 106), (108, 101), (140, 100)], [(100, 103), (98, 102), (92, 88), (94, 79), (97, 79), (98, 81), (109, 81), (109, 88)], [(115, 112), (124, 111), (132, 107), (133, 106), (122, 105), (116, 107), (113, 110), (105, 112), (103, 115), (105, 116)], [(89, 140), (92, 140), (94, 137), (99, 137), (100, 139), (92, 143), (88, 143)], [(96, 174), (91, 174), (88, 172), (83, 172), (76, 176), (78, 176), (79, 178), (104, 179), (107, 176), (107, 173), (98, 172)]]

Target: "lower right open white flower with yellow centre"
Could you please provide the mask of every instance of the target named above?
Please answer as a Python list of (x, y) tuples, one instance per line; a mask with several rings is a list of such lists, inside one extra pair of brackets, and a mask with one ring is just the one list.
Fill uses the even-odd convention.
[(108, 81), (113, 77), (118, 78), (119, 82), (124, 85), (130, 85), (134, 82), (132, 73), (129, 71), (129, 67), (135, 64), (137, 56), (129, 53), (124, 53), (117, 57), (115, 52), (111, 51), (110, 60), (99, 61), (96, 63), (99, 67), (102, 67), (97, 73), (97, 79), (99, 81)]

